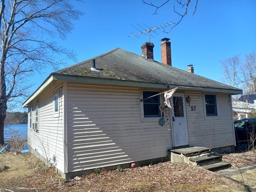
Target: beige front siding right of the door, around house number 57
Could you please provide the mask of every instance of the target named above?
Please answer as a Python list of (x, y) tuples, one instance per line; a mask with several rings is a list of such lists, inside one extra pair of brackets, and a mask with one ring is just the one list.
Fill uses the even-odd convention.
[[(207, 93), (212, 94), (212, 93)], [(218, 116), (206, 117), (203, 92), (186, 92), (191, 98), (186, 104), (190, 146), (218, 148), (234, 145), (232, 111), (229, 94), (216, 94)], [(196, 106), (192, 111), (191, 107)]]

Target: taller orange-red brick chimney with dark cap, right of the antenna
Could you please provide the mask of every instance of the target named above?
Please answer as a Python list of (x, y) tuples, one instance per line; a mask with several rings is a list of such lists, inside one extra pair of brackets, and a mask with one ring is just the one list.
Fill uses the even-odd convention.
[(161, 39), (161, 58), (162, 63), (172, 66), (171, 42), (168, 38)]

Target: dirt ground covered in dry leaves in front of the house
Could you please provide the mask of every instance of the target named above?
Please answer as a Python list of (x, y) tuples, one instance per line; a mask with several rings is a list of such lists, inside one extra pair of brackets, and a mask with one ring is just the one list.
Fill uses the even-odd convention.
[[(256, 152), (224, 154), (231, 168), (256, 164)], [(256, 191), (256, 170), (227, 178), (188, 164), (161, 162), (155, 165), (101, 170), (76, 179), (63, 180), (32, 154), (0, 154), (1, 192), (242, 192)]]

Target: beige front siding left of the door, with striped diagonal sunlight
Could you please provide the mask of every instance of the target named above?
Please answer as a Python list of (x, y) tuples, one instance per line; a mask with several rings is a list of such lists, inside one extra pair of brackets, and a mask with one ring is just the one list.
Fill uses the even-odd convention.
[(139, 88), (68, 83), (68, 172), (167, 155), (168, 128), (140, 121)]

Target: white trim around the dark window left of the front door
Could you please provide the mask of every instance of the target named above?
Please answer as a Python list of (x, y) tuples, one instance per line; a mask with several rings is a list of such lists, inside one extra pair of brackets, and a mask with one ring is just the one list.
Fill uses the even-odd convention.
[[(156, 94), (161, 92), (160, 90), (141, 89), (140, 90), (141, 99), (143, 99), (144, 91), (157, 92)], [(160, 104), (163, 103), (163, 97), (161, 95), (159, 95), (159, 102)], [(160, 112), (160, 116), (158, 117), (144, 117), (144, 101), (140, 101), (140, 121), (141, 122), (158, 122), (159, 118), (161, 118), (161, 112)]]

